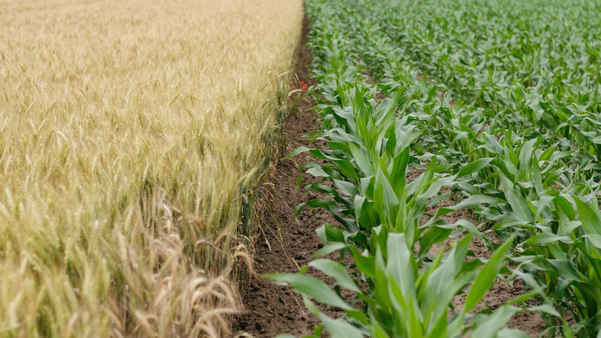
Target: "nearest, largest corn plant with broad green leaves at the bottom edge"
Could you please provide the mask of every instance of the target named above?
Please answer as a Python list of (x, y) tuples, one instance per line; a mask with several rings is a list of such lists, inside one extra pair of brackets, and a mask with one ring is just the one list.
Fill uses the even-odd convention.
[[(388, 233), (379, 226), (373, 229), (373, 236), (385, 245), (376, 246), (375, 252), (360, 252), (355, 246), (339, 241), (344, 237), (340, 230), (327, 225), (326, 228), (321, 230), (322, 239), (333, 242), (317, 255), (343, 249), (350, 252), (355, 261), (350, 267), (328, 259), (310, 263), (312, 268), (335, 279), (334, 290), (303, 273), (270, 277), (302, 293), (305, 304), (321, 318), (330, 337), (462, 337), (472, 330), (476, 337), (528, 337), (517, 330), (503, 329), (503, 325), (512, 315), (526, 311), (514, 305), (532, 294), (515, 298), (490, 316), (470, 314), (496, 279), (511, 241), (482, 263), (465, 260), (471, 235), (465, 236), (454, 243), (448, 253), (443, 255), (441, 250), (432, 262), (420, 266), (406, 245), (408, 240), (404, 233)], [(349, 272), (349, 268), (360, 273)], [(368, 287), (362, 288), (362, 284)], [(452, 298), (468, 285), (465, 306), (449, 318)], [(354, 298), (351, 301), (343, 298), (341, 289), (352, 291)], [(328, 318), (311, 299), (341, 309), (347, 317)], [(538, 309), (553, 313), (546, 307)], [(318, 328), (312, 337), (320, 337), (320, 334), (321, 328)]]

